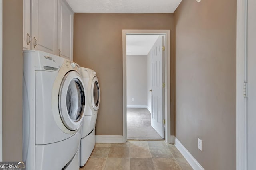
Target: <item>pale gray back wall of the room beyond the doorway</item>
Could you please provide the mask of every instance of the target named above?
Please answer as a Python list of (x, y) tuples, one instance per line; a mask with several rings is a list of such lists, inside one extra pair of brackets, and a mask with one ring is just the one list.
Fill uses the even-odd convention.
[[(147, 105), (147, 56), (126, 57), (127, 105)], [(134, 101), (132, 101), (134, 98)]]

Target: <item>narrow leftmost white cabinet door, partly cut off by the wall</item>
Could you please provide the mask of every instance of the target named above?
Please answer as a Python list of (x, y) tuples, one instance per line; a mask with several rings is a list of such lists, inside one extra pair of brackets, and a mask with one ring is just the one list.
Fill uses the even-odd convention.
[(30, 31), (30, 0), (23, 0), (23, 49), (31, 48), (31, 31)]

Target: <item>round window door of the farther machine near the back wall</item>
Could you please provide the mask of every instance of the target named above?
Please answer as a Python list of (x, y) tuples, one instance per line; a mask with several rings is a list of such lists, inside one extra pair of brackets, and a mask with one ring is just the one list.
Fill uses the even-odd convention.
[(99, 104), (100, 104), (100, 86), (98, 82), (98, 78), (94, 76), (92, 79), (92, 86), (91, 86), (91, 96), (92, 96), (92, 107), (94, 111), (98, 111)]

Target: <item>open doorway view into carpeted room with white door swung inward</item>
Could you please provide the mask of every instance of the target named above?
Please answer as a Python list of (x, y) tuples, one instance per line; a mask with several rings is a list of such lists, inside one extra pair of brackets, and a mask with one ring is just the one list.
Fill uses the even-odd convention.
[(164, 35), (126, 35), (127, 139), (165, 138)]

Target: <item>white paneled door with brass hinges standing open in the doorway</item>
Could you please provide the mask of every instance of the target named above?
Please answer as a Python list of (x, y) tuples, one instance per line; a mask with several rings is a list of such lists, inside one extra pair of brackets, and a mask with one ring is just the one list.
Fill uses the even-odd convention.
[(163, 66), (162, 59), (163, 55), (163, 37), (159, 36), (156, 40), (156, 43), (153, 45), (151, 50), (152, 56), (152, 95), (151, 95), (151, 126), (156, 130), (156, 132), (164, 138), (164, 107), (163, 107), (163, 95), (164, 95), (164, 88), (163, 88)]

